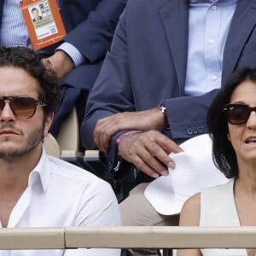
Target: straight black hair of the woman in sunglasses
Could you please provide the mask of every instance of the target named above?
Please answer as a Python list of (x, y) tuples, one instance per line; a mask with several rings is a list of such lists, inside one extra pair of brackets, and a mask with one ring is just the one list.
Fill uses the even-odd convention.
[(224, 117), (222, 107), (230, 103), (233, 91), (246, 80), (256, 83), (256, 69), (244, 67), (232, 73), (230, 79), (218, 91), (207, 113), (207, 128), (212, 137), (213, 160), (225, 177), (237, 177), (238, 166), (236, 152), (227, 138), (228, 122)]

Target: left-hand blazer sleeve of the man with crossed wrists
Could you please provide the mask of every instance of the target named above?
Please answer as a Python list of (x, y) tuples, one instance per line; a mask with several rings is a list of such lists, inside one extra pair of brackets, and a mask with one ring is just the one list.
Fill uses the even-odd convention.
[[(80, 131), (84, 147), (96, 148), (93, 131), (97, 120), (123, 111), (134, 111), (125, 34), (125, 11), (120, 17), (113, 43), (87, 100)], [(108, 172), (117, 164), (118, 152), (115, 141), (122, 132), (124, 131), (112, 137), (109, 152), (104, 155)]]

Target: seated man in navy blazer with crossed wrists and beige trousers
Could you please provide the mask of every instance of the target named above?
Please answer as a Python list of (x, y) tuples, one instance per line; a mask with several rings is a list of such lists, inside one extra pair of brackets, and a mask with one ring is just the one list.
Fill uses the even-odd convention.
[[(169, 154), (207, 132), (212, 98), (244, 66), (256, 67), (255, 1), (129, 0), (90, 91), (82, 141), (102, 151), (108, 172), (126, 161), (140, 170), (137, 182), (167, 175), (175, 164)], [(154, 211), (144, 189), (120, 204), (123, 224), (174, 224)]]

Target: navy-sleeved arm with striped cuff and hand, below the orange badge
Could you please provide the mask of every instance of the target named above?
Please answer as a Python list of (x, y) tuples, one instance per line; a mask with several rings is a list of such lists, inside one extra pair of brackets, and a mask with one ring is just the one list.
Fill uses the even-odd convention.
[[(74, 67), (79, 67), (85, 60), (93, 63), (104, 58), (126, 2), (127, 0), (100, 1), (86, 20), (67, 32), (67, 36), (62, 39), (63, 44), (47, 59), (59, 79)], [(68, 8), (68, 5), (64, 5), (66, 6)], [(67, 12), (63, 12), (65, 11)]]

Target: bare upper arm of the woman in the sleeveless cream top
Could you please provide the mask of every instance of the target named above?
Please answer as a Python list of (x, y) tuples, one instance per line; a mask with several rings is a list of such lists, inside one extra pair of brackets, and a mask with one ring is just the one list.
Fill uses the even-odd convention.
[[(179, 226), (199, 226), (200, 194), (191, 196), (183, 205), (179, 218)], [(200, 249), (179, 249), (177, 256), (202, 256)]]

